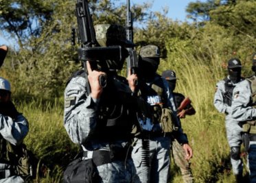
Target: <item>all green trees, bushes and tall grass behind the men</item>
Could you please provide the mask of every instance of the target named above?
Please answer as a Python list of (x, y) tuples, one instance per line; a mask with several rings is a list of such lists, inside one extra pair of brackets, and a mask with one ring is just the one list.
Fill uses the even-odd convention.
[[(22, 3), (23, 9), (13, 6), (15, 3)], [(48, 167), (47, 177), (38, 179), (61, 182), (62, 170), (78, 151), (63, 126), (61, 97), (65, 81), (80, 67), (71, 61), (75, 1), (0, 0), (0, 5), (0, 27), (19, 45), (19, 49), (10, 48), (1, 76), (10, 80), (15, 103), (30, 121), (25, 143)], [(124, 25), (124, 3), (93, 0), (90, 6), (95, 24)], [(242, 60), (244, 76), (252, 73), (251, 56), (256, 45), (255, 1), (190, 3), (187, 12), (195, 23), (172, 21), (166, 12), (150, 12), (148, 8), (150, 3), (132, 7), (134, 21), (141, 23), (135, 27), (136, 49), (158, 45), (164, 56), (159, 73), (166, 69), (176, 71), (179, 78), (176, 91), (193, 102), (196, 114), (183, 119), (182, 123), (194, 149), (191, 168), (196, 182), (229, 182), (229, 178), (232, 181), (224, 115), (214, 108), (213, 95), (216, 82), (226, 75), (225, 66), (230, 58)], [(11, 23), (16, 23), (17, 32), (6, 21), (8, 14)], [(32, 19), (37, 22), (36, 27), (30, 27)], [(120, 73), (126, 75), (126, 69)], [(181, 182), (178, 169), (172, 168), (173, 181)]]

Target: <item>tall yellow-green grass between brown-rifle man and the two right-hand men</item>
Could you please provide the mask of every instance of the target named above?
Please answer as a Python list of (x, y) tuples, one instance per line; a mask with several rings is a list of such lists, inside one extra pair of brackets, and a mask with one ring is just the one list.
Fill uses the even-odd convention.
[[(213, 96), (218, 80), (224, 78), (222, 61), (218, 55), (210, 60), (195, 59), (181, 51), (178, 65), (172, 60), (162, 62), (159, 73), (166, 69), (176, 71), (176, 92), (183, 93), (192, 101), (196, 114), (182, 119), (183, 130), (194, 149), (191, 169), (195, 182), (232, 182), (229, 145), (226, 140), (224, 114), (213, 106)], [(169, 64), (169, 65), (168, 65)], [(178, 169), (172, 165), (173, 182), (181, 182)]]

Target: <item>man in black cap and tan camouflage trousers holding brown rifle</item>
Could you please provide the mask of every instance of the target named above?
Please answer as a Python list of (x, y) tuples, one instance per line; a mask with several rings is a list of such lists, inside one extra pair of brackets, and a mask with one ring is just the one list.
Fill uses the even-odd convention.
[[(170, 90), (173, 92), (176, 107), (179, 108), (185, 97), (181, 93), (174, 93), (176, 88), (176, 73), (172, 70), (163, 71), (162, 77), (167, 80)], [(178, 111), (177, 117), (180, 119), (185, 118), (186, 115), (194, 115), (196, 110), (188, 103), (185, 108)], [(181, 169), (181, 175), (183, 175), (183, 181), (187, 183), (194, 182), (194, 177), (190, 168), (190, 162), (186, 159), (186, 153), (176, 138), (172, 139), (172, 155), (175, 164)]]

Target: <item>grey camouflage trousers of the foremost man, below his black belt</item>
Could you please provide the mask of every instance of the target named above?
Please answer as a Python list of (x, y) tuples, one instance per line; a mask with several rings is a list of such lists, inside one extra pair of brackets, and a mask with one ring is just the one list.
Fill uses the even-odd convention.
[(101, 183), (140, 183), (135, 165), (131, 158), (125, 161), (113, 161), (97, 167)]

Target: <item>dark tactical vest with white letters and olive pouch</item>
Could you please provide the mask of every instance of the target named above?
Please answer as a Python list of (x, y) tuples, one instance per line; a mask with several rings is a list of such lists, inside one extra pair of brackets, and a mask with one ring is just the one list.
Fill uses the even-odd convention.
[(173, 112), (166, 103), (168, 99), (164, 88), (163, 78), (160, 75), (156, 75), (150, 86), (142, 86), (139, 95), (147, 102), (143, 103), (146, 106), (140, 108), (148, 109), (142, 111), (143, 116), (150, 118), (153, 124), (159, 123), (162, 132), (172, 132), (176, 127), (172, 118)]

